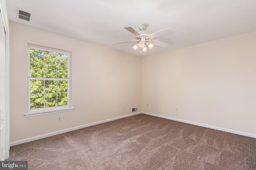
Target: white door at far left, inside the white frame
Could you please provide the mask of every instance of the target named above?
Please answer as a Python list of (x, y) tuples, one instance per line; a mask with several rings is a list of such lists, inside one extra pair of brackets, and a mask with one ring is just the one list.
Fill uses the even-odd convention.
[(0, 160), (5, 158), (5, 30), (0, 13)]

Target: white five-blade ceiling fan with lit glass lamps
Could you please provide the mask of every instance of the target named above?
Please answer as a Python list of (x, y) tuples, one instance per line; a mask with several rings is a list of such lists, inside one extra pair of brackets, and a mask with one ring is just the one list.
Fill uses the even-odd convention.
[(138, 43), (133, 45), (132, 48), (134, 50), (137, 50), (140, 47), (140, 48), (142, 48), (143, 52), (146, 52), (148, 50), (146, 45), (148, 45), (148, 47), (150, 49), (152, 49), (154, 47), (154, 45), (158, 45), (158, 46), (161, 46), (161, 47), (167, 47), (169, 44), (161, 42), (161, 41), (156, 41), (153, 38), (156, 38), (158, 36), (174, 32), (172, 28), (166, 28), (166, 29), (163, 29), (161, 31), (157, 31), (155, 33), (150, 34), (148, 31), (146, 31), (146, 28), (147, 28), (146, 24), (141, 24), (140, 25), (140, 31), (138, 31), (138, 32), (135, 29), (133, 29), (132, 27), (124, 27), (124, 28), (126, 30), (130, 31), (132, 34), (134, 34), (136, 36), (136, 39), (121, 41), (121, 42), (113, 43), (113, 44), (116, 45), (116, 44), (122, 44), (122, 43), (128, 43), (128, 42), (133, 42), (133, 41), (135, 42), (136, 41)]

